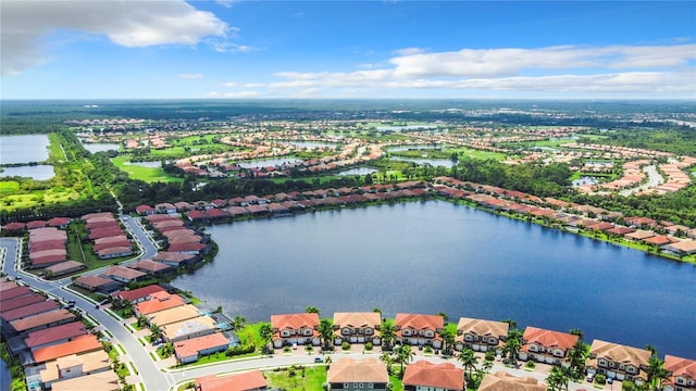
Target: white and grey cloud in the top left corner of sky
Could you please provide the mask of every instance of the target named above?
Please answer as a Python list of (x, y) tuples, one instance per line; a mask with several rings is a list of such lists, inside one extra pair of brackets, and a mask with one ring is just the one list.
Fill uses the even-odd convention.
[(103, 35), (119, 46), (197, 45), (234, 29), (183, 0), (3, 0), (2, 75), (15, 75), (49, 59), (41, 39), (58, 30)]

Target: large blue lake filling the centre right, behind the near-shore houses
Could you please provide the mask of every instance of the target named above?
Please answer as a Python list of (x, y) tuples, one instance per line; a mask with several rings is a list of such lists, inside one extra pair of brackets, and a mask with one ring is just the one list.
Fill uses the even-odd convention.
[(207, 228), (215, 261), (173, 285), (214, 308), (512, 318), (696, 357), (696, 266), (443, 201)]

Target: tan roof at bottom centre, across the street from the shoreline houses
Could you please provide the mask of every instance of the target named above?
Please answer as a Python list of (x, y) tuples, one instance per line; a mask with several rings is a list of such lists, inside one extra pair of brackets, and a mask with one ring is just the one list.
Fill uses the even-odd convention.
[(386, 364), (377, 358), (339, 358), (331, 364), (326, 374), (326, 381), (330, 383), (345, 382), (389, 382)]

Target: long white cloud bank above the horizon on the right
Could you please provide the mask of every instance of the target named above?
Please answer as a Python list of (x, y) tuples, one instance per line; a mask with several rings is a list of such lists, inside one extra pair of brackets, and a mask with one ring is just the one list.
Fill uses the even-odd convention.
[[(270, 88), (287, 93), (333, 88), (449, 89), (558, 92), (696, 91), (696, 45), (559, 46), (401, 53), (378, 70), (277, 72)], [(562, 72), (561, 72), (562, 71)], [(294, 90), (295, 92), (291, 92)], [(387, 92), (388, 93), (388, 92)]]

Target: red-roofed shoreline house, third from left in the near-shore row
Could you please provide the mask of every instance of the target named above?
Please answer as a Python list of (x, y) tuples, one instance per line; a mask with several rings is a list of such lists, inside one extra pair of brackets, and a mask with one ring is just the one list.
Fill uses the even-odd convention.
[(396, 314), (394, 323), (398, 343), (442, 348), (443, 340), (439, 332), (445, 327), (445, 319), (440, 315)]

